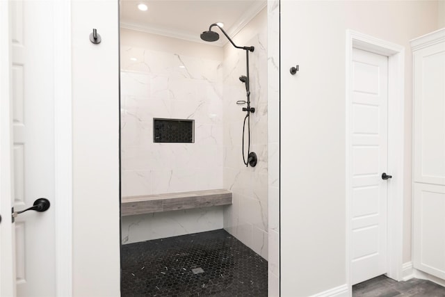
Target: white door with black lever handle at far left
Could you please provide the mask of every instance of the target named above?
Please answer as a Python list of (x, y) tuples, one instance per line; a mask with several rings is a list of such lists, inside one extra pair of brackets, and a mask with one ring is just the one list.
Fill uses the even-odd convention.
[[(7, 6), (3, 4), (2, 9)], [(12, 191), (6, 195), (2, 191), (1, 204), (7, 205), (12, 197), (15, 211), (20, 211), (33, 206), (38, 198), (47, 198), (52, 203), (47, 211), (27, 211), (19, 214), (12, 225), (2, 226), (1, 244), (13, 246), (15, 254), (12, 264), (15, 272), (10, 273), (15, 275), (17, 296), (26, 297), (56, 295), (52, 11), (51, 1), (9, 1), (9, 22), (7, 18), (1, 21), (2, 27), (10, 29), (8, 40), (8, 34), (1, 36), (1, 47), (6, 49), (8, 43), (11, 51), (9, 62), (2, 60), (1, 65), (2, 83), (5, 83), (3, 75), (10, 74), (10, 99), (2, 96), (1, 106), (11, 106), (9, 115), (2, 110), (1, 123), (5, 127), (12, 124), (12, 143), (2, 139), (1, 156), (5, 158), (2, 161), (6, 162), (3, 152), (8, 151), (8, 146), (13, 151), (12, 172), (8, 176), (8, 172), (2, 171), (4, 177), (10, 178)], [(6, 14), (3, 10), (1, 13)], [(10, 117), (9, 122), (3, 121), (3, 115), (4, 119)], [(4, 221), (11, 219), (8, 209), (0, 210)], [(14, 230), (6, 230), (8, 226)], [(9, 236), (3, 236), (3, 232)], [(13, 296), (13, 291), (9, 289), (4, 296)]]

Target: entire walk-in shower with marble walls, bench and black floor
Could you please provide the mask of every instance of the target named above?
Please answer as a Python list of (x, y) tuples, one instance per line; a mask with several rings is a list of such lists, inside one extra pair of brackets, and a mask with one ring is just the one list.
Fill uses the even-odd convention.
[(121, 0), (121, 294), (266, 297), (266, 1), (165, 2)]

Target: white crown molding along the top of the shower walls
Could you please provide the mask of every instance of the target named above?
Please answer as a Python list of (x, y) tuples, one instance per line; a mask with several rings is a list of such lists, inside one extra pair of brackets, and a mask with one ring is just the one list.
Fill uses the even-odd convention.
[[(234, 25), (227, 31), (227, 35), (229, 35), (230, 38), (234, 38), (236, 34), (238, 34), (244, 28), (244, 26), (247, 25), (256, 15), (258, 15), (258, 13), (267, 5), (266, 0), (253, 1), (253, 2), (254, 4), (250, 6), (250, 8), (246, 10), (245, 13), (238, 19), (238, 21), (236, 21)], [(195, 33), (190, 33), (188, 31), (179, 31), (176, 29), (172, 30), (163, 26), (156, 26), (156, 25), (147, 26), (126, 21), (120, 22), (120, 28), (163, 35), (170, 38), (178, 38), (192, 42), (199, 42), (205, 45), (215, 45), (218, 47), (224, 47), (228, 42), (228, 40), (226, 40), (225, 38), (220, 39), (216, 42), (205, 42), (204, 40), (201, 40), (199, 35)]]

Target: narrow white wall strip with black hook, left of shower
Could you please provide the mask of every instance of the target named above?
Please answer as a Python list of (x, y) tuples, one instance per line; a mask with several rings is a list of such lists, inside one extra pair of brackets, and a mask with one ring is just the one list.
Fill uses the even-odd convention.
[[(72, 2), (73, 296), (120, 296), (118, 1)], [(93, 45), (92, 29), (102, 36)]]

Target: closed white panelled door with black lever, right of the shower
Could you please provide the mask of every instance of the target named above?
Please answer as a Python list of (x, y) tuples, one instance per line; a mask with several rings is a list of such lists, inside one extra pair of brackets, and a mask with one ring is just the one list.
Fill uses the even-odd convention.
[(351, 282), (387, 273), (388, 58), (353, 49)]

